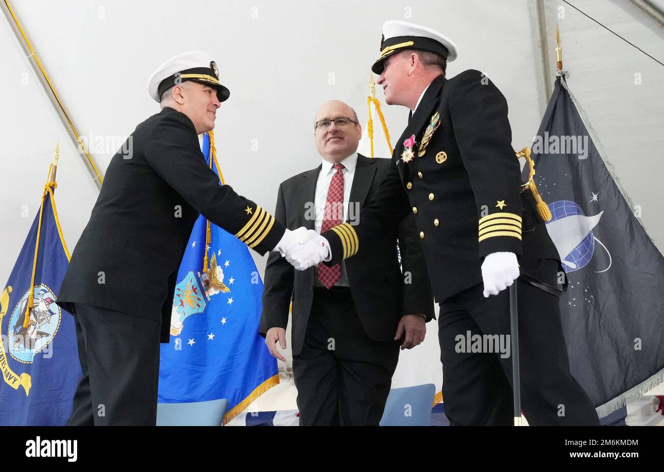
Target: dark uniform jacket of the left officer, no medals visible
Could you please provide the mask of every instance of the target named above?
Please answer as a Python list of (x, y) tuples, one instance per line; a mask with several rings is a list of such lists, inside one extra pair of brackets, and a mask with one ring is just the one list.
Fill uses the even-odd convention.
[(285, 229), (219, 184), (184, 113), (165, 107), (129, 140), (129, 158), (118, 152), (106, 170), (57, 302), (70, 312), (84, 303), (161, 321), (168, 342), (177, 270), (199, 213), (261, 254)]

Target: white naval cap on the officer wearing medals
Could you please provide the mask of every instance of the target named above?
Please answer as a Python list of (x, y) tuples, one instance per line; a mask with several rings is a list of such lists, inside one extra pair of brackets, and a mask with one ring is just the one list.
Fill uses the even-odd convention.
[(435, 52), (448, 62), (455, 60), (458, 53), (456, 44), (436, 30), (406, 21), (390, 20), (382, 25), (380, 57), (371, 66), (371, 70), (374, 74), (382, 74), (385, 58), (406, 49)]

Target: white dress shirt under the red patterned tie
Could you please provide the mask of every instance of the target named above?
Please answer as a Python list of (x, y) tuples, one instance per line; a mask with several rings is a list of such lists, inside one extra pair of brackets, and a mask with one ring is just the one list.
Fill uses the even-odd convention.
[[(344, 168), (341, 170), (343, 172), (343, 220), (348, 221), (348, 202), (351, 199), (351, 187), (353, 187), (353, 177), (355, 176), (355, 167), (357, 166), (357, 152), (354, 152), (347, 158), (341, 161)], [(316, 193), (315, 200), (313, 202), (314, 211), (315, 211), (315, 226), (314, 229), (316, 233), (321, 233), (321, 227), (323, 226), (323, 216), (325, 215), (325, 203), (327, 202), (327, 191), (330, 187), (330, 182), (332, 181), (332, 176), (337, 172), (333, 168), (332, 162), (327, 162), (323, 160), (321, 166), (321, 172), (318, 174), (318, 180), (316, 182)], [(359, 210), (359, 208), (357, 208)], [(318, 278), (318, 266), (315, 265), (314, 268), (314, 277), (313, 285), (316, 287), (322, 287), (323, 282)], [(335, 284), (335, 286), (349, 286), (348, 274), (346, 273), (346, 265), (341, 262), (341, 278)]]

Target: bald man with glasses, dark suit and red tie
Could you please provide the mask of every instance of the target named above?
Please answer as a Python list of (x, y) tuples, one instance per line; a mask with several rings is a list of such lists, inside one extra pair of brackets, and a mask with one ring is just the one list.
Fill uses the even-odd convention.
[[(342, 101), (325, 103), (314, 128), (322, 162), (282, 182), (275, 217), (288, 228), (306, 227), (315, 234), (355, 223), (390, 160), (357, 153), (362, 129), (355, 111)], [(425, 323), (434, 317), (414, 218), (404, 218), (361, 255), (331, 267), (295, 271), (286, 259), (270, 255), (260, 330), (282, 361), (276, 343), (286, 348), (291, 300), (300, 424), (378, 425), (399, 345), (411, 349), (422, 343)]]

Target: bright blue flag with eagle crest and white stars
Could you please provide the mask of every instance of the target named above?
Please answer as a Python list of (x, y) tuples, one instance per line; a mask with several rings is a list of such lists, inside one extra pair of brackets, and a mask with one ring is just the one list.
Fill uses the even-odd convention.
[[(218, 173), (213, 147), (205, 134), (203, 154)], [(226, 423), (279, 383), (276, 359), (258, 333), (263, 282), (246, 245), (208, 225), (203, 215), (193, 227), (177, 280), (171, 343), (161, 345), (159, 402), (226, 398)]]

